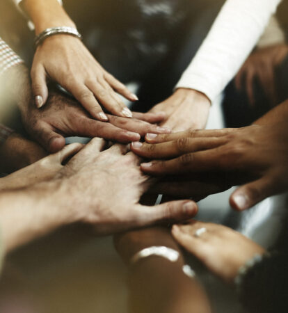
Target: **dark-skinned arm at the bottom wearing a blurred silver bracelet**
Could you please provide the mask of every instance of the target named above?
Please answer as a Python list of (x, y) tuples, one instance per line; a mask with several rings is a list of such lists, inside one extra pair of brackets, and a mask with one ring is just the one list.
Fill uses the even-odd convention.
[(138, 251), (150, 246), (166, 246), (180, 255), (177, 262), (154, 256), (129, 265), (131, 312), (211, 312), (200, 282), (184, 275), (182, 252), (167, 228), (120, 234), (115, 238), (115, 246), (127, 264)]

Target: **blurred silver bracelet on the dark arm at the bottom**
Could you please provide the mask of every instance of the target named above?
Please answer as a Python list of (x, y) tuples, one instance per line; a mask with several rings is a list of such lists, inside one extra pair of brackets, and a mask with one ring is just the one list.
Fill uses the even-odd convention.
[[(134, 265), (139, 260), (152, 256), (163, 257), (164, 259), (168, 259), (170, 262), (177, 262), (179, 259), (179, 252), (166, 246), (152, 246), (137, 252), (136, 255), (131, 258), (130, 263)], [(189, 265), (186, 264), (182, 266), (182, 271), (189, 278), (195, 278), (195, 272)]]

